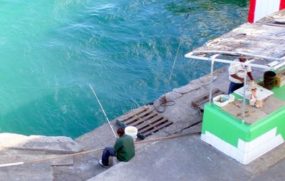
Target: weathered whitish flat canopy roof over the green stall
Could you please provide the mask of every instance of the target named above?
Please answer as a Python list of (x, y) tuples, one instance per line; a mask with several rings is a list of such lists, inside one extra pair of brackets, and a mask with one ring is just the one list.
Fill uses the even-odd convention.
[[(215, 54), (229, 58), (212, 57)], [(285, 9), (266, 16), (257, 23), (243, 24), (185, 55), (187, 58), (224, 63), (231, 63), (230, 57), (240, 56), (252, 61), (266, 61), (261, 64), (252, 61), (243, 63), (253, 67), (277, 69), (285, 66)]]

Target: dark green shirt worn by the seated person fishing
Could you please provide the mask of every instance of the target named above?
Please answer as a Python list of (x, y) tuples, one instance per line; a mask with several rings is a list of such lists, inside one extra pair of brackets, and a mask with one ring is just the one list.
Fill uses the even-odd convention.
[(135, 156), (135, 145), (130, 135), (123, 135), (115, 143), (114, 146), (116, 157), (119, 161), (128, 162)]

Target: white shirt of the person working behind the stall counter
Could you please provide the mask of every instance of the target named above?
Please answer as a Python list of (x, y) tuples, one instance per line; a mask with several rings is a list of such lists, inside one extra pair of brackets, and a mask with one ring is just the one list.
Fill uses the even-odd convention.
[(239, 62), (239, 59), (235, 59), (233, 63), (229, 66), (229, 81), (233, 83), (242, 83), (242, 81), (239, 81), (237, 78), (233, 78), (231, 75), (236, 74), (240, 78), (244, 78), (247, 76), (248, 72), (252, 71), (252, 68), (250, 66), (244, 66)]

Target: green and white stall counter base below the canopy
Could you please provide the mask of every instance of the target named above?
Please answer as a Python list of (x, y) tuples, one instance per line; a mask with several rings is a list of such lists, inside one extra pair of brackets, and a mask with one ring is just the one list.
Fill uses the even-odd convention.
[[(265, 100), (264, 108), (270, 107), (277, 100), (279, 105), (275, 110), (267, 112), (249, 108), (250, 105), (246, 104), (245, 110), (249, 108), (254, 113), (256, 109), (259, 115), (254, 123), (243, 121), (217, 105), (207, 103), (204, 106), (201, 139), (243, 164), (284, 143), (285, 86), (274, 88), (273, 92), (274, 94)], [(245, 115), (247, 116), (247, 113)], [(252, 117), (254, 116), (249, 114), (248, 118)]]

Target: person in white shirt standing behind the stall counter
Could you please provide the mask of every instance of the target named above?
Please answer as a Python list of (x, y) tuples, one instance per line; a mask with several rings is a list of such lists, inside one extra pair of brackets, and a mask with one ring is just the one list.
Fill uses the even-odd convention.
[(229, 93), (233, 93), (234, 90), (242, 88), (244, 86), (244, 77), (249, 76), (250, 80), (254, 81), (252, 78), (252, 68), (250, 66), (244, 66), (239, 62), (246, 62), (246, 58), (239, 58), (234, 60), (233, 63), (229, 66)]

